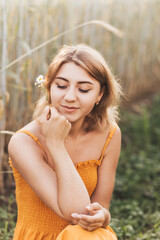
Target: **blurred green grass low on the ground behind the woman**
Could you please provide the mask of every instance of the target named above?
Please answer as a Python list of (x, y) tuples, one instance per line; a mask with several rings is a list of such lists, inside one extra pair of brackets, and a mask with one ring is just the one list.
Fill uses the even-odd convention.
[[(122, 151), (111, 202), (119, 240), (160, 239), (160, 97), (139, 113), (123, 109)], [(15, 197), (0, 197), (0, 240), (12, 239)]]

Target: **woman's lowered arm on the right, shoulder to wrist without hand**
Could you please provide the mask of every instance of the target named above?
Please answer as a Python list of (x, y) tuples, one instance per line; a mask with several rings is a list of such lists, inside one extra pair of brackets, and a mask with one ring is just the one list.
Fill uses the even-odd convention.
[(115, 174), (120, 150), (121, 131), (119, 128), (117, 128), (106, 148), (104, 159), (98, 168), (97, 186), (91, 196), (91, 202), (99, 202), (106, 209), (109, 209), (114, 189)]

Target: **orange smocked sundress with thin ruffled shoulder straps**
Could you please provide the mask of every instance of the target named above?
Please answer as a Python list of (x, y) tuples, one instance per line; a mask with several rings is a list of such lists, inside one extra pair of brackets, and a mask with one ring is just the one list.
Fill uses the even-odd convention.
[[(91, 196), (97, 184), (97, 167), (101, 164), (105, 149), (117, 126), (111, 128), (99, 160), (88, 160), (75, 165)], [(42, 148), (38, 138), (28, 131), (28, 134)], [(13, 240), (117, 240), (111, 227), (99, 228), (92, 232), (82, 229), (79, 225), (70, 225), (61, 219), (36, 195), (25, 179), (12, 166), (16, 182), (16, 201), (18, 207), (17, 224)]]

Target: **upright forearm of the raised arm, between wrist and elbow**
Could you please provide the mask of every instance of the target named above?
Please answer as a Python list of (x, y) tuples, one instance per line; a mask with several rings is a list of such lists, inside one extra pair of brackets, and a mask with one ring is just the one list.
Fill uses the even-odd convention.
[(70, 219), (73, 212), (86, 213), (85, 207), (90, 203), (90, 197), (64, 145), (53, 149), (48, 144), (48, 148), (54, 161), (57, 201), (62, 214)]

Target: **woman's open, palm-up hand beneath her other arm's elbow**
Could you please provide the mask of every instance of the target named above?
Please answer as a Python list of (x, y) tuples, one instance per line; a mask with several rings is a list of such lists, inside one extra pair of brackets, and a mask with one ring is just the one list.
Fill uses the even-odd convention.
[(106, 227), (110, 222), (110, 213), (99, 203), (94, 202), (89, 204), (86, 209), (89, 215), (73, 213), (73, 224), (80, 225), (87, 231), (93, 231), (100, 227)]

